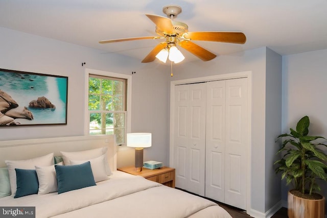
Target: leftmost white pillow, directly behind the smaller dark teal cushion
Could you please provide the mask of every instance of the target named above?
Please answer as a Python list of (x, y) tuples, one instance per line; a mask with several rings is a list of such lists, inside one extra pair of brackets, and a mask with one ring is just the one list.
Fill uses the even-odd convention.
[(5, 160), (10, 180), (11, 195), (15, 195), (17, 189), (16, 183), (16, 171), (15, 168), (19, 169), (35, 169), (35, 165), (38, 166), (51, 166), (54, 164), (53, 153), (36, 157), (28, 160)]

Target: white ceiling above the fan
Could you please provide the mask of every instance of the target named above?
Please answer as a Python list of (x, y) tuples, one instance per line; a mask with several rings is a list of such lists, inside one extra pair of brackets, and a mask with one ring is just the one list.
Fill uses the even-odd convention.
[[(327, 0), (1, 0), (0, 27), (75, 43), (140, 61), (164, 39), (100, 44), (100, 40), (156, 36), (145, 14), (175, 19), (189, 31), (240, 31), (245, 44), (193, 41), (216, 55), (268, 46), (281, 55), (327, 49)], [(1, 36), (0, 36), (1, 39)], [(181, 49), (182, 50), (182, 49)], [(182, 50), (188, 61), (198, 60)]]

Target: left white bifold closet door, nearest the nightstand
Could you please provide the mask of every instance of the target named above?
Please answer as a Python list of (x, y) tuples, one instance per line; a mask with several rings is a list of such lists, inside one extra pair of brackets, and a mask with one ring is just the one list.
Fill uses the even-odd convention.
[(175, 86), (176, 187), (204, 196), (205, 83)]

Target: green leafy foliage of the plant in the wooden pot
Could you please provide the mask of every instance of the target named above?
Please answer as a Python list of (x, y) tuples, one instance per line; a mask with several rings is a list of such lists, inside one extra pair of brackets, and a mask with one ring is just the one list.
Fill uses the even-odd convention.
[(325, 139), (321, 136), (309, 136), (310, 119), (308, 116), (302, 117), (296, 125), (296, 130), (290, 128), (290, 134), (282, 134), (287, 137), (282, 143), (277, 154), (282, 154), (282, 158), (277, 160), (276, 174), (282, 173), (282, 180), (285, 178), (287, 185), (293, 184), (294, 189), (302, 194), (309, 194), (320, 191), (317, 179), (327, 180), (327, 155), (318, 146), (327, 147), (326, 144), (315, 141)]

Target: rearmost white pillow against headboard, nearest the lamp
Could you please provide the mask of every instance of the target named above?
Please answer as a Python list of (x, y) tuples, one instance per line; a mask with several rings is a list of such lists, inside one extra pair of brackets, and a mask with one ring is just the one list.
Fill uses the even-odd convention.
[(63, 158), (63, 162), (65, 165), (71, 165), (71, 160), (88, 160), (96, 157), (100, 157), (101, 155), (105, 155), (105, 167), (107, 175), (111, 175), (111, 170), (108, 162), (108, 147), (102, 147), (98, 149), (91, 149), (86, 151), (79, 152), (60, 152)]

